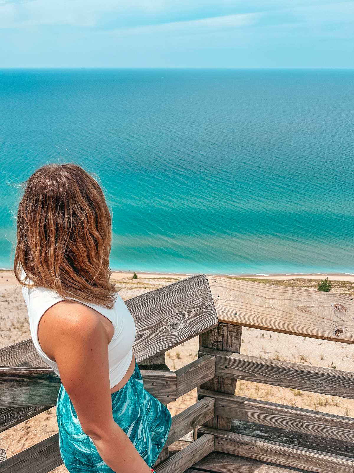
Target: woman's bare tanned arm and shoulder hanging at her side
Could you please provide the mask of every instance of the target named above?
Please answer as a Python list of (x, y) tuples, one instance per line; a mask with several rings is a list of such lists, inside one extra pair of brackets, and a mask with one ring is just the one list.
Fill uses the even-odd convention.
[(151, 473), (125, 432), (113, 419), (107, 333), (89, 307), (60, 302), (42, 317), (42, 350), (58, 364), (61, 382), (84, 432), (102, 460), (116, 473)]

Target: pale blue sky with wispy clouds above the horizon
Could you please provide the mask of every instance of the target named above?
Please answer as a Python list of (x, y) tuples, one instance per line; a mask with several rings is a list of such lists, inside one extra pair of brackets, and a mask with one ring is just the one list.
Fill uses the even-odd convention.
[(354, 0), (0, 0), (0, 67), (353, 68)]

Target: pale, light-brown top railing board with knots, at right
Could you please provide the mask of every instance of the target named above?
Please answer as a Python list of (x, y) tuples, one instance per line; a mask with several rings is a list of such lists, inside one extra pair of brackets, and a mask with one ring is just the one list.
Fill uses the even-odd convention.
[(220, 322), (354, 343), (354, 298), (208, 277)]

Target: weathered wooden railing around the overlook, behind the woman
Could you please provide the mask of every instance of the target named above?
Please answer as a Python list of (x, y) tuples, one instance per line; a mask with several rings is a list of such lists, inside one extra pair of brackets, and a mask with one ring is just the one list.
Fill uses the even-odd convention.
[[(197, 402), (173, 418), (158, 473), (354, 472), (354, 419), (235, 395), (242, 379), (353, 398), (353, 373), (240, 354), (242, 326), (354, 343), (353, 297), (198, 275), (126, 305), (145, 388), (167, 404), (198, 387)], [(165, 351), (197, 335), (198, 359), (169, 371)], [(60, 380), (31, 341), (0, 350), (0, 367), (1, 430), (55, 405)], [(193, 430), (194, 441), (169, 455)], [(61, 463), (56, 434), (2, 461), (0, 472)]]

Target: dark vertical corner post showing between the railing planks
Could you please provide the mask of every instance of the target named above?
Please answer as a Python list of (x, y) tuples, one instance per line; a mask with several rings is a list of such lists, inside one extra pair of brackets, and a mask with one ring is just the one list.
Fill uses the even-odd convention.
[[(199, 337), (199, 346), (201, 350), (205, 349), (224, 350), (239, 353), (241, 349), (242, 327), (231, 324), (219, 324), (218, 327), (211, 329), (209, 332), (203, 333)], [(213, 351), (213, 350), (210, 350)], [(198, 354), (198, 358), (203, 355)], [(215, 372), (215, 377), (203, 383), (203, 389), (211, 391), (219, 391), (221, 393), (235, 394), (236, 380), (227, 375), (219, 375)], [(198, 391), (199, 391), (198, 387)], [(231, 427), (231, 419), (229, 417), (215, 416), (214, 419), (206, 422), (206, 425), (218, 429), (229, 430)]]

